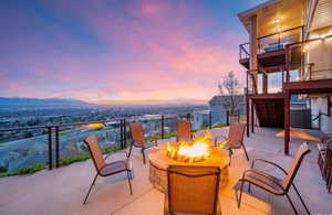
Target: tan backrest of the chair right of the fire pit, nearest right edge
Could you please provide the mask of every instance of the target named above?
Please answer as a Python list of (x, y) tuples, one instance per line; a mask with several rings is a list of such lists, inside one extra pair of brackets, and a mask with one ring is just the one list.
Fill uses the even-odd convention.
[(298, 151), (293, 158), (293, 161), (291, 163), (291, 166), (287, 171), (287, 176), (283, 179), (282, 186), (286, 191), (288, 191), (290, 189), (290, 186), (292, 185), (292, 182), (298, 173), (298, 170), (303, 161), (303, 158), (309, 152), (310, 152), (310, 149), (308, 147), (308, 143), (303, 142), (300, 146), (300, 148), (298, 149)]

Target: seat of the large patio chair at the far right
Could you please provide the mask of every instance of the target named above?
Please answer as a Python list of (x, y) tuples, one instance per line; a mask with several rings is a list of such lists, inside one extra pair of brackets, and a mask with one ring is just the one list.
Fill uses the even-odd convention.
[[(277, 195), (284, 193), (283, 189), (279, 185), (282, 184), (282, 180), (267, 174), (259, 170), (249, 170), (245, 174), (245, 179), (250, 183)], [(279, 185), (278, 185), (279, 184)]]

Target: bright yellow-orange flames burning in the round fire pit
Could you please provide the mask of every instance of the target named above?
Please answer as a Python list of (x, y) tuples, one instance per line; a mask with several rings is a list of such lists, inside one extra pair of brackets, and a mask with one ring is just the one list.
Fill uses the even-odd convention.
[(181, 141), (177, 144), (167, 143), (167, 157), (183, 162), (204, 161), (210, 155), (211, 133), (195, 138), (193, 142)]

